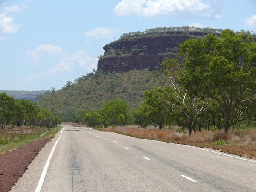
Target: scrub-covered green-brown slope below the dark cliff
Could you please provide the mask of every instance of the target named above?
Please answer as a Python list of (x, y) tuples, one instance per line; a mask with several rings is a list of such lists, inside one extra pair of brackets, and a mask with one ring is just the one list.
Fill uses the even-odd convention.
[(114, 99), (124, 100), (131, 108), (139, 108), (145, 90), (160, 86), (154, 82), (154, 74), (148, 69), (131, 70), (128, 73), (88, 74), (76, 84), (62, 90), (38, 96), (42, 107), (55, 107), (55, 112), (70, 109), (99, 109)]

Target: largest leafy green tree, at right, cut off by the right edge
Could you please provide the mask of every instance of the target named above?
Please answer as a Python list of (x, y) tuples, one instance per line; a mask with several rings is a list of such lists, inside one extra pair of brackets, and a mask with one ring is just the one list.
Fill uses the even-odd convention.
[(208, 34), (180, 45), (185, 71), (180, 81), (194, 94), (218, 102), (224, 113), (225, 133), (230, 115), (256, 96), (256, 43), (246, 32), (226, 29), (221, 37)]

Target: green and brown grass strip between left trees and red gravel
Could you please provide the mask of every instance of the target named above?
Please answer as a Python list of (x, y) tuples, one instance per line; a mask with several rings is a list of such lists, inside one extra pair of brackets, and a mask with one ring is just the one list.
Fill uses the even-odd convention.
[[(31, 127), (13, 129), (6, 128), (4, 131), (0, 130), (0, 154), (8, 153), (34, 140), (42, 139), (45, 137), (54, 137), (60, 129), (61, 126), (58, 126), (56, 131), (55, 128)], [(47, 131), (49, 132), (44, 134)], [(41, 136), (42, 134), (44, 135)]]

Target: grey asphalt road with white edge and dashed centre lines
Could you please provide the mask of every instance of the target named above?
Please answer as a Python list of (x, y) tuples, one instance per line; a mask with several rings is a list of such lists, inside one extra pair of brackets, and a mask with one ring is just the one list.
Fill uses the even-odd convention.
[(253, 192), (256, 161), (213, 150), (65, 126), (12, 188), (12, 192), (36, 190)]

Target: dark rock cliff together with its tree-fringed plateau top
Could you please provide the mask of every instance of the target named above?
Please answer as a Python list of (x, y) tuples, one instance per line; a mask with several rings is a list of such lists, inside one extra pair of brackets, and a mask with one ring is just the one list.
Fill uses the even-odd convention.
[[(222, 29), (196, 27), (159, 27), (145, 32), (124, 33), (119, 40), (106, 44), (99, 56), (98, 70), (127, 72), (132, 69), (158, 69), (164, 58), (174, 58), (179, 44), (190, 38), (204, 38), (208, 33), (220, 35)], [(253, 32), (247, 32), (255, 36)]]

